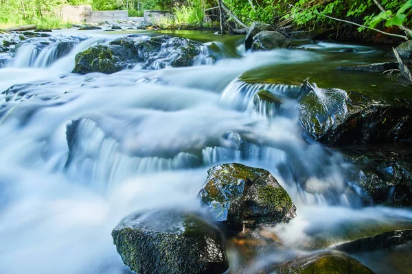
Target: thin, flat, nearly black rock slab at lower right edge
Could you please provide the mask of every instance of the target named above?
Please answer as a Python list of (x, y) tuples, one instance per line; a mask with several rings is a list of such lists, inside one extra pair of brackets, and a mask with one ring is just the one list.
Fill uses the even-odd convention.
[(358, 253), (398, 247), (400, 245), (406, 245), (409, 242), (412, 242), (412, 229), (385, 232), (351, 242), (344, 242), (341, 245), (336, 245), (334, 249), (348, 253)]

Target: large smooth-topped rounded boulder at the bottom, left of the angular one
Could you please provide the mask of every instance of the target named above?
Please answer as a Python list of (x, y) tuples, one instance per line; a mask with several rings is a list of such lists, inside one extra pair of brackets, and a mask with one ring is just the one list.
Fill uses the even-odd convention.
[(224, 273), (229, 268), (219, 229), (198, 212), (131, 214), (112, 236), (124, 264), (137, 273)]

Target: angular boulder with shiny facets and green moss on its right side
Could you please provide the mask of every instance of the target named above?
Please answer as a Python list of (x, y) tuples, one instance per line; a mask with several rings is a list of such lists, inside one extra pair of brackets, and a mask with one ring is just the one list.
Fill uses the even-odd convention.
[(199, 195), (216, 220), (234, 230), (244, 225), (284, 223), (296, 216), (292, 199), (270, 172), (243, 164), (209, 169)]

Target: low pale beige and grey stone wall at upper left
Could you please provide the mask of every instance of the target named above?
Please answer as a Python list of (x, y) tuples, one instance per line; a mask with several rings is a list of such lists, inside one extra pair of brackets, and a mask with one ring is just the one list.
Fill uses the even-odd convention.
[(65, 5), (61, 14), (63, 21), (71, 23), (100, 23), (128, 19), (127, 10), (93, 12), (91, 5)]

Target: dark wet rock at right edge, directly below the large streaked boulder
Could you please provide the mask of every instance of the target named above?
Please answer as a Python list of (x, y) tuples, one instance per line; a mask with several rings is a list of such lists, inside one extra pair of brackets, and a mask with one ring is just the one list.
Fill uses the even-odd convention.
[(412, 206), (412, 162), (393, 151), (369, 151), (349, 158), (358, 166), (356, 181), (374, 203)]

